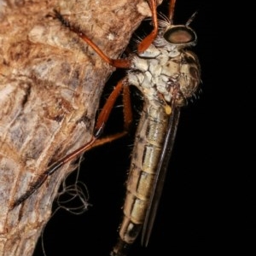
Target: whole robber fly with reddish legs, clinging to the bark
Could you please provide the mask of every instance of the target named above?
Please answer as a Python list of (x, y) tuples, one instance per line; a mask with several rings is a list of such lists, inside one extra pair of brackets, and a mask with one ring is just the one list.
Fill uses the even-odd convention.
[(129, 69), (121, 79), (96, 122), (90, 143), (56, 162), (32, 184), (32, 189), (14, 203), (14, 207), (37, 190), (45, 179), (67, 161), (83, 153), (96, 143), (102, 134), (113, 104), (123, 91), (125, 128), (131, 124), (129, 85), (134, 85), (143, 96), (143, 111), (137, 127), (131, 157), (131, 168), (126, 183), (123, 221), (119, 227), (119, 239), (112, 256), (125, 256), (127, 248), (142, 233), (142, 245), (147, 246), (160, 201), (166, 167), (172, 153), (177, 131), (180, 108), (195, 95), (200, 84), (200, 65), (194, 53), (187, 48), (196, 43), (196, 34), (189, 27), (194, 15), (185, 25), (173, 24), (175, 0), (169, 3), (168, 17), (157, 18), (156, 0), (148, 0), (152, 11), (154, 29), (137, 46), (137, 53), (128, 59), (108, 58), (90, 38), (76, 31), (80, 38), (92, 47), (104, 61), (113, 67)]

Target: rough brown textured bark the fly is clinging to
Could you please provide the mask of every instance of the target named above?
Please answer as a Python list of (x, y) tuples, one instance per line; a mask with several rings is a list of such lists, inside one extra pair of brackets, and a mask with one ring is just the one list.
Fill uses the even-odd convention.
[(143, 0), (0, 0), (0, 256), (32, 255), (61, 180), (75, 166), (10, 205), (50, 163), (90, 140), (113, 71), (54, 9), (113, 58), (150, 15)]

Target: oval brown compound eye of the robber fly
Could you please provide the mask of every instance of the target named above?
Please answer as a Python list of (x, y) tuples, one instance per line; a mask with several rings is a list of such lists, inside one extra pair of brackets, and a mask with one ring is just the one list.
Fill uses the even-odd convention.
[(163, 37), (170, 44), (191, 44), (196, 40), (195, 32), (188, 26), (172, 26)]

